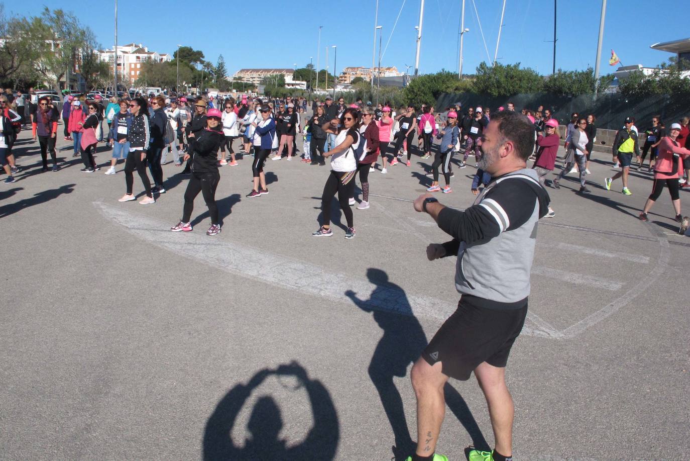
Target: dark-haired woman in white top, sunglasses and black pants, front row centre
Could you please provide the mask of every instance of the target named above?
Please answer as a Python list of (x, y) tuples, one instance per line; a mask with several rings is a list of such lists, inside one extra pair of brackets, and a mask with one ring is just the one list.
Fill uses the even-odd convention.
[[(339, 123), (340, 126), (337, 126)], [(335, 135), (335, 148), (324, 153), (324, 157), (331, 157), (331, 173), (324, 186), (324, 194), (321, 198), (322, 225), (312, 235), (315, 237), (332, 236), (331, 230), (331, 203), (335, 193), (338, 193), (340, 209), (347, 220), (345, 238), (355, 237), (355, 225), (353, 223), (352, 209), (348, 203), (355, 189), (355, 173), (357, 173), (357, 161), (354, 149), (359, 146), (359, 132), (357, 131), (357, 109), (345, 109), (342, 118), (331, 120), (322, 126), (326, 133)]]

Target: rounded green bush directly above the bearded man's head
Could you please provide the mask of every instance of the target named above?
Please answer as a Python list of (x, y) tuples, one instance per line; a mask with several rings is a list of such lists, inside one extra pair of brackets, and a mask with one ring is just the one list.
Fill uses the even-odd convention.
[(477, 67), (473, 87), (477, 93), (491, 96), (511, 96), (519, 93), (538, 93), (543, 79), (531, 68), (520, 68), (517, 64), (495, 64), (482, 62)]

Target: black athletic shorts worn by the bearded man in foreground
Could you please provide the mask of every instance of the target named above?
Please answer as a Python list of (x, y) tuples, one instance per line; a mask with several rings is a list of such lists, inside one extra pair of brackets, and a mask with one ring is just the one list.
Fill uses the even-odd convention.
[(422, 352), (429, 365), (442, 363), (446, 376), (466, 381), (482, 362), (504, 367), (524, 325), (527, 300), (518, 309), (489, 309), (464, 295)]

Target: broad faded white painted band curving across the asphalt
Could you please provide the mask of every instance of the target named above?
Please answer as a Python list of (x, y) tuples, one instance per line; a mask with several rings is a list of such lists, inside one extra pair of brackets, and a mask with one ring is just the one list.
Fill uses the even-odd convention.
[[(148, 243), (248, 279), (348, 304), (353, 301), (345, 293), (353, 291), (373, 309), (438, 321), (444, 321), (457, 308), (455, 303), (411, 296), (403, 290), (393, 288), (393, 285), (377, 285), (347, 274), (327, 272), (317, 265), (210, 237), (203, 231), (170, 232), (169, 223), (166, 225), (148, 216), (103, 202), (94, 202), (94, 205), (103, 216), (124, 226), (128, 232)], [(362, 270), (364, 272), (364, 268)], [(531, 313), (528, 314), (523, 334), (558, 337), (555, 329)]]

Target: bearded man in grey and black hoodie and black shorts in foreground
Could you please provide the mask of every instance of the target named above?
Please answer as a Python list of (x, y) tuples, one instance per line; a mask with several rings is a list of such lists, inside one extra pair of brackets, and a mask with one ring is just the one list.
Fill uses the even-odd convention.
[(430, 214), (453, 240), (431, 244), (430, 261), (457, 254), (457, 310), (426, 346), (412, 368), (417, 395), (417, 449), (408, 461), (447, 461), (435, 453), (443, 422), (444, 384), (465, 381), (474, 371), (489, 405), (493, 451), (472, 450), (470, 461), (512, 460), (513, 399), (505, 367), (527, 314), (529, 276), (537, 223), (549, 209), (549, 194), (526, 160), (534, 150), (534, 127), (520, 113), (497, 113), (481, 138), (477, 168), (491, 182), (465, 211), (444, 207), (424, 194), (416, 211)]

